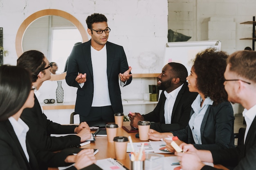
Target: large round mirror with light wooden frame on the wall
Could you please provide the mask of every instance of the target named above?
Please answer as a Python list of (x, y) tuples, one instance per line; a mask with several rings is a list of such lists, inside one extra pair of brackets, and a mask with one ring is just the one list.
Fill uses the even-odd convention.
[[(47, 27), (45, 29), (48, 29), (48, 30), (43, 31), (43, 27)], [(55, 28), (55, 30), (53, 28)], [(56, 51), (56, 48), (53, 49), (52, 46), (54, 43), (65, 44), (65, 42), (63, 42), (65, 40), (62, 40), (61, 37), (65, 37), (72, 34), (74, 34), (73, 37), (75, 37), (75, 34), (77, 35), (77, 33), (75, 33), (76, 28), (81, 35), (82, 41), (83, 42), (88, 41), (87, 33), (83, 28), (82, 24), (74, 16), (70, 15), (69, 13), (66, 13), (65, 11), (61, 11), (57, 9), (45, 9), (45, 10), (33, 13), (32, 15), (27, 17), (27, 19), (24, 20), (24, 22), (22, 22), (22, 24), (20, 25), (20, 28), (18, 29), (18, 32), (16, 35), (16, 43), (15, 43), (16, 53), (19, 57), (23, 53), (23, 51), (36, 49), (43, 52), (43, 54), (45, 54), (45, 56), (47, 57), (47, 59), (49, 59), (49, 61), (54, 61), (54, 57), (52, 57), (52, 55), (54, 54), (63, 55), (63, 61), (66, 61), (71, 51), (68, 52), (68, 54), (61, 54), (61, 52)], [(53, 35), (53, 30), (55, 31), (55, 36)], [(56, 31), (56, 30), (59, 30), (59, 31)], [(69, 31), (72, 30), (73, 33), (70, 32), (68, 35), (67, 33), (64, 33), (64, 35), (60, 35), (57, 38), (54, 38), (56, 37), (56, 35), (59, 35), (61, 32), (65, 32), (68, 30)], [(32, 34), (33, 33), (43, 34), (42, 32), (45, 34), (43, 37), (46, 37), (46, 39), (36, 38), (35, 39), (36, 42), (33, 42), (34, 36)], [(48, 35), (51, 35), (51, 36), (48, 36)], [(39, 45), (40, 44), (39, 41), (42, 42), (44, 45), (42, 44)], [(77, 41), (79, 40), (77, 39)], [(74, 44), (72, 44), (72, 46), (73, 45)], [(39, 46), (40, 47), (43, 46), (43, 48), (40, 49)], [(54, 62), (58, 63), (57, 61), (54, 61)], [(62, 65), (61, 70), (63, 70), (63, 67), (64, 66)], [(51, 81), (62, 80), (65, 78), (65, 76), (66, 76), (66, 72), (63, 72), (61, 74), (52, 74), (52, 78), (50, 80)]]

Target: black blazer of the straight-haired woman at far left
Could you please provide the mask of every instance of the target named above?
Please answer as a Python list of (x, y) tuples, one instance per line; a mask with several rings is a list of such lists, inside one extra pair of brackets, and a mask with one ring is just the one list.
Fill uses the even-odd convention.
[[(1, 170), (47, 170), (48, 167), (69, 166), (65, 163), (69, 153), (40, 151), (26, 139), (29, 162), (9, 120), (0, 122), (0, 169)], [(90, 166), (89, 166), (90, 167)], [(86, 168), (85, 168), (86, 169)], [(76, 170), (74, 166), (66, 170)]]

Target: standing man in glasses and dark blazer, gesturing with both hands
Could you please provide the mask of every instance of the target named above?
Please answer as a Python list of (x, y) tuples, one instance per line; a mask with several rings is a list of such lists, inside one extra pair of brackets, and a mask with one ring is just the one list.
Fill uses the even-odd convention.
[(122, 113), (121, 86), (132, 81), (132, 68), (128, 67), (122, 46), (108, 41), (110, 28), (103, 14), (87, 17), (91, 39), (73, 47), (70, 54), (66, 82), (77, 87), (75, 112), (80, 122), (90, 126), (105, 126), (114, 122), (114, 113)]

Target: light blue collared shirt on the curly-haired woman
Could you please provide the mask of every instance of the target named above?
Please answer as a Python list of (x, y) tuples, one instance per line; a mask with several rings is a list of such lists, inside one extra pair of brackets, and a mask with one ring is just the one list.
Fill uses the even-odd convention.
[(201, 124), (209, 105), (213, 105), (213, 100), (211, 100), (209, 97), (207, 97), (204, 100), (202, 107), (201, 107), (201, 102), (202, 102), (202, 98), (200, 94), (198, 94), (198, 96), (195, 98), (195, 100), (191, 105), (194, 113), (189, 120), (189, 127), (192, 131), (195, 144), (202, 144), (201, 130), (200, 130)]

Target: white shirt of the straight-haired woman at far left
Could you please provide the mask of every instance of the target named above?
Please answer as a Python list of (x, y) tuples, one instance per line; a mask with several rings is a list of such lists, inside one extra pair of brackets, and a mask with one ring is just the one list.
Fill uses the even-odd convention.
[(29, 162), (29, 154), (27, 153), (27, 144), (26, 144), (26, 136), (27, 136), (27, 131), (29, 131), (29, 126), (23, 122), (20, 118), (18, 121), (14, 119), (12, 116), (8, 118), (11, 126), (13, 127), (13, 130), (18, 137), (18, 140), (20, 142), (20, 145), (27, 157), (27, 161)]

